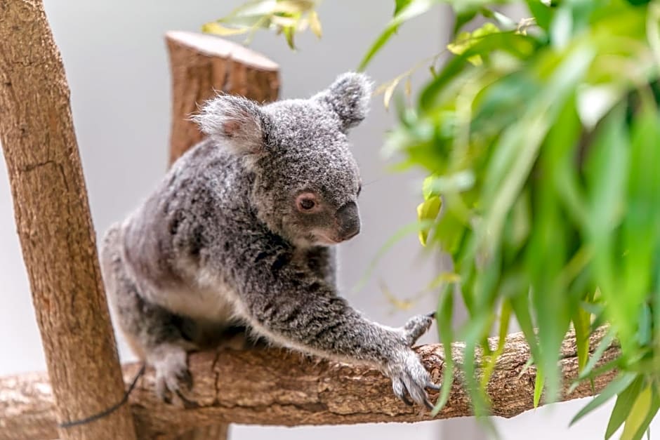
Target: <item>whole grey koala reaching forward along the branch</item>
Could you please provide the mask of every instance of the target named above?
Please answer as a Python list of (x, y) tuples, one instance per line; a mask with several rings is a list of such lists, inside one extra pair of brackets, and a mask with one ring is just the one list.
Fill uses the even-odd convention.
[[(360, 230), (359, 170), (347, 133), (371, 81), (338, 76), (309, 99), (232, 95), (192, 119), (206, 135), (105, 234), (103, 279), (121, 331), (154, 368), (165, 401), (190, 389), (187, 353), (243, 328), (272, 345), (369, 364), (407, 404), (439, 389), (411, 349), (432, 318), (370, 321), (336, 287), (336, 244)], [(255, 339), (251, 340), (255, 340)]]

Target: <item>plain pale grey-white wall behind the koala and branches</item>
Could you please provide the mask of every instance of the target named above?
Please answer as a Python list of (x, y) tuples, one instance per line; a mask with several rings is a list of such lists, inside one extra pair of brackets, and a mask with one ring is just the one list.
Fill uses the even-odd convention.
[[(166, 168), (169, 140), (169, 66), (162, 36), (171, 29), (197, 30), (237, 6), (238, 0), (46, 0), (55, 41), (60, 46), (72, 90), (72, 108), (86, 175), (95, 228), (102, 234), (143, 199)], [(325, 1), (321, 41), (298, 38), (292, 53), (283, 39), (259, 33), (252, 47), (282, 66), (282, 98), (304, 97), (327, 86), (334, 77), (355, 69), (364, 51), (387, 22), (393, 2)], [(443, 10), (446, 11), (446, 10)], [(368, 70), (377, 82), (387, 81), (440, 51), (451, 29), (451, 16), (428, 15), (404, 27)], [(421, 75), (425, 74), (422, 69)], [(367, 121), (352, 134), (354, 152), (365, 182), (361, 197), (362, 233), (341, 247), (341, 286), (355, 307), (385, 324), (400, 325), (411, 314), (435, 309), (433, 293), (414, 309), (397, 311), (381, 284), (400, 298), (411, 298), (430, 280), (431, 260), (421, 258), (415, 236), (409, 236), (383, 258), (367, 286), (352, 287), (364, 274), (378, 248), (398, 227), (414, 220), (419, 175), (392, 175), (379, 159), (383, 133), (392, 124), (379, 98)], [(44, 250), (45, 251), (45, 250)], [(43, 370), (44, 356), (27, 276), (15, 234), (6, 168), (0, 167), (0, 375)], [(437, 340), (435, 327), (424, 342)], [(119, 338), (121, 359), (133, 359)], [(567, 431), (576, 408), (572, 403), (542, 408), (497, 425), (505, 439), (601, 438), (607, 411)], [(234, 439), (484, 439), (471, 418), (415, 425), (350, 427), (233, 427)]]

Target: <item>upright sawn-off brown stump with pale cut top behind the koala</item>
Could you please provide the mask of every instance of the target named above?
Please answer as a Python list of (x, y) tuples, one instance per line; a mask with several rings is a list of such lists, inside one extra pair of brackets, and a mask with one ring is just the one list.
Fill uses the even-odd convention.
[(263, 55), (211, 35), (173, 31), (165, 39), (172, 69), (170, 163), (202, 140), (188, 119), (216, 92), (258, 102), (277, 99), (279, 67)]

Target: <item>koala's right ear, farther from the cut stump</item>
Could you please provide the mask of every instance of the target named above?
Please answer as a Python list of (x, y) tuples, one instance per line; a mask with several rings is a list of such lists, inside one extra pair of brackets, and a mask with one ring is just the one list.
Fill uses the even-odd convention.
[(312, 99), (325, 102), (342, 123), (342, 131), (357, 126), (369, 112), (371, 80), (365, 74), (347, 72), (341, 74), (326, 90)]

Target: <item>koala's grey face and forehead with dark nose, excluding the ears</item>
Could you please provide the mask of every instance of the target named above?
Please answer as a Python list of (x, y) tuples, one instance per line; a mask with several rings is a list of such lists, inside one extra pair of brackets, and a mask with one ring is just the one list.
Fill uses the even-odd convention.
[(341, 120), (316, 100), (263, 107), (266, 149), (254, 167), (254, 200), (297, 244), (337, 244), (359, 232), (359, 170)]

